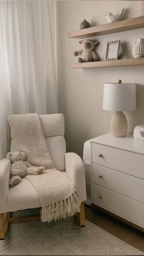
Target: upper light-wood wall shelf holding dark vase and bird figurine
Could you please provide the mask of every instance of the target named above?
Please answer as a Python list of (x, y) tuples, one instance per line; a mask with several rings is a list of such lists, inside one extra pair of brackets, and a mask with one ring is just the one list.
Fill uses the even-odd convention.
[(98, 35), (107, 35), (132, 29), (140, 29), (144, 27), (144, 16), (132, 18), (129, 20), (121, 20), (115, 23), (107, 23), (100, 26), (88, 27), (87, 29), (79, 29), (77, 31), (68, 32), (71, 38), (87, 38)]

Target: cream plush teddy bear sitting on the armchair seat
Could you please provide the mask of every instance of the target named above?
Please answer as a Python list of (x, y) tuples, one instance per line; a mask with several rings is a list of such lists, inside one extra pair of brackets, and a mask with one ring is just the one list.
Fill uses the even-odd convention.
[(10, 167), (10, 186), (14, 186), (21, 182), (21, 178), (26, 175), (42, 174), (44, 167), (32, 166), (27, 160), (27, 154), (24, 152), (9, 152), (7, 158), (11, 161)]

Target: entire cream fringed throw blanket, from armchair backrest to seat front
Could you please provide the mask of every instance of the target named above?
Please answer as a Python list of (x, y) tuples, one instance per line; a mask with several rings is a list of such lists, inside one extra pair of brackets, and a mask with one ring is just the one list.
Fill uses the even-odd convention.
[(81, 199), (66, 172), (54, 169), (38, 114), (10, 115), (11, 151), (26, 152), (27, 161), (45, 166), (41, 175), (27, 175), (41, 203), (41, 221), (50, 222), (80, 211)]

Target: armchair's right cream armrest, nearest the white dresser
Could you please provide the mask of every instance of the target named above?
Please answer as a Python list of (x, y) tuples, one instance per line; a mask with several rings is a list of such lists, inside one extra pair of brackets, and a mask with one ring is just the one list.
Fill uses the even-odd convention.
[(65, 170), (82, 201), (86, 200), (85, 169), (82, 159), (76, 153), (65, 153)]

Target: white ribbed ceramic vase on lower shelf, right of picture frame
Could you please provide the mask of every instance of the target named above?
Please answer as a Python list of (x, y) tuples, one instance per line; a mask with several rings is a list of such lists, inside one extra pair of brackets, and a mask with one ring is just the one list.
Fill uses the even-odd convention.
[(135, 41), (132, 49), (132, 55), (135, 59), (144, 57), (144, 38), (139, 38), (137, 41)]

